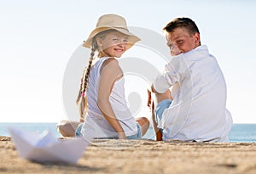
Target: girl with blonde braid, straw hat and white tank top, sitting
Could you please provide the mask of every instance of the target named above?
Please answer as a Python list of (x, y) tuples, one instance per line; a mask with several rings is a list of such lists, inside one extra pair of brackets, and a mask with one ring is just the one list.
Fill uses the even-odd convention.
[[(84, 118), (76, 129), (77, 136), (134, 139), (147, 132), (148, 119), (135, 120), (128, 109), (123, 72), (116, 59), (139, 40), (117, 14), (102, 15), (97, 21), (96, 29), (83, 44), (91, 48), (91, 53), (77, 99), (80, 116)], [(92, 65), (96, 52), (98, 59)]]

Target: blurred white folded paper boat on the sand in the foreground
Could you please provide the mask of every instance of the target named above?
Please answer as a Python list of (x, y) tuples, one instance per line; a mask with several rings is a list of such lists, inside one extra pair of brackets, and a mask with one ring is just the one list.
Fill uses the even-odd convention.
[(75, 164), (90, 145), (83, 138), (58, 140), (51, 132), (44, 131), (41, 135), (26, 132), (20, 128), (9, 127), (11, 138), (20, 156), (38, 162), (66, 162)]

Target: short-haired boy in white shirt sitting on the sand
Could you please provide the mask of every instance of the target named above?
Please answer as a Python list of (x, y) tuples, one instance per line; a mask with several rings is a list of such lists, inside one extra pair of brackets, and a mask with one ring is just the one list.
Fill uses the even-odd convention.
[(151, 89), (158, 103), (155, 109), (152, 104), (157, 140), (228, 142), (232, 118), (225, 108), (224, 76), (207, 46), (201, 46), (195, 22), (177, 18), (163, 30), (175, 56)]

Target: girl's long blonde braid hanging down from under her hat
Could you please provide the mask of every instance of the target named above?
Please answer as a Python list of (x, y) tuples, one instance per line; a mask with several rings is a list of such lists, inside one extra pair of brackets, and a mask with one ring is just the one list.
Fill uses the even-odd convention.
[[(81, 85), (80, 85), (80, 90), (79, 90), (79, 96), (77, 98), (76, 103), (79, 104), (79, 115), (80, 115), (80, 121), (84, 121), (84, 114), (86, 113), (87, 110), (87, 102), (86, 102), (86, 95), (85, 95), (85, 91), (88, 85), (88, 80), (89, 80), (89, 75), (90, 75), (90, 68), (92, 65), (92, 61), (94, 59), (94, 55), (95, 55), (95, 51), (96, 51), (97, 45), (96, 45), (96, 41), (94, 39), (93, 43), (92, 43), (92, 47), (91, 47), (91, 52), (90, 52), (90, 59), (89, 59), (89, 63), (88, 63), (88, 67), (83, 72), (83, 76), (81, 79)], [(80, 103), (79, 103), (80, 101)]]

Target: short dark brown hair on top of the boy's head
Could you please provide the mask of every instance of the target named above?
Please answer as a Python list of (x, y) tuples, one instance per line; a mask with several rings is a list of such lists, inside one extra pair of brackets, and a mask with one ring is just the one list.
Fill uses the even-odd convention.
[(169, 22), (164, 28), (164, 31), (172, 32), (176, 28), (184, 27), (189, 31), (190, 35), (194, 35), (196, 32), (200, 34), (195, 22), (189, 18), (176, 18)]

